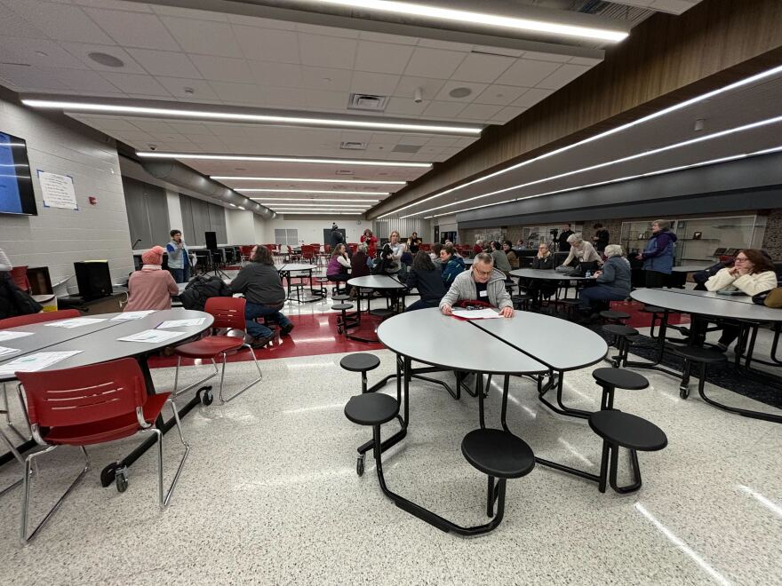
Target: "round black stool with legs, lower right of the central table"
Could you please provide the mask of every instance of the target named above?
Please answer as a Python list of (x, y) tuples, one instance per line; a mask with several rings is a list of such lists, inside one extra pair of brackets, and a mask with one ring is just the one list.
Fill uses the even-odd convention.
[[(611, 488), (621, 494), (641, 488), (641, 469), (638, 466), (638, 450), (656, 452), (668, 445), (668, 439), (657, 425), (639, 416), (622, 411), (606, 409), (595, 411), (589, 416), (589, 427), (602, 438), (602, 460), (600, 463), (600, 492), (605, 492), (606, 480)], [(617, 485), (617, 461), (619, 447), (630, 450), (630, 468), (633, 484)], [(610, 452), (610, 463), (609, 463)]]

